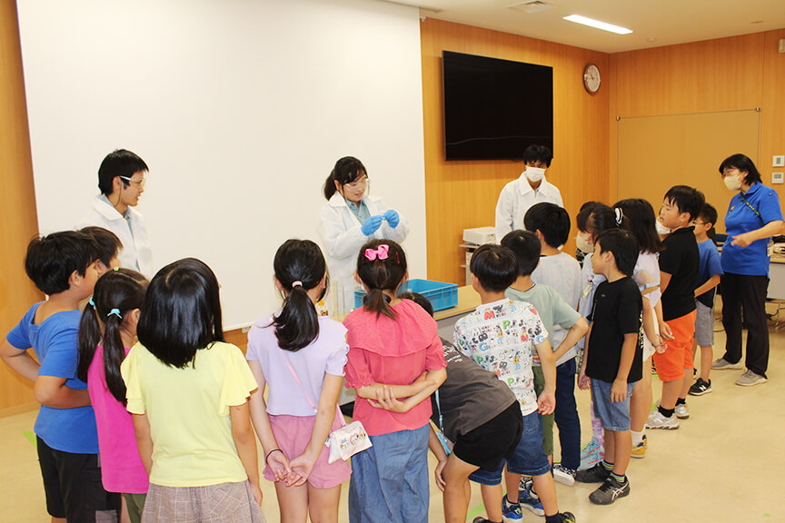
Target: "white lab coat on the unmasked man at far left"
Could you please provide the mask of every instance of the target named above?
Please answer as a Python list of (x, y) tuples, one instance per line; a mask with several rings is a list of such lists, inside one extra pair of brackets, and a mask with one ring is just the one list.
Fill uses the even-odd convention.
[(93, 199), (93, 208), (80, 222), (78, 228), (94, 225), (114, 232), (123, 249), (120, 250), (120, 265), (126, 269), (139, 271), (147, 278), (153, 277), (153, 251), (147, 240), (142, 214), (133, 207), (128, 208), (128, 219), (117, 212), (104, 196), (97, 195)]

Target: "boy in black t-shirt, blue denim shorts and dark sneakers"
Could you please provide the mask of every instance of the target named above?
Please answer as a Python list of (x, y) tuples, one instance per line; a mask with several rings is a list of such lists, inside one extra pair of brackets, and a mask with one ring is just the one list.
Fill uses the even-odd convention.
[(575, 480), (602, 483), (589, 495), (598, 505), (630, 494), (630, 394), (643, 370), (643, 301), (631, 278), (637, 260), (638, 242), (622, 229), (602, 232), (591, 256), (594, 273), (606, 281), (594, 293), (578, 385), (586, 390), (591, 381), (594, 411), (605, 431), (605, 458), (591, 469), (579, 470)]

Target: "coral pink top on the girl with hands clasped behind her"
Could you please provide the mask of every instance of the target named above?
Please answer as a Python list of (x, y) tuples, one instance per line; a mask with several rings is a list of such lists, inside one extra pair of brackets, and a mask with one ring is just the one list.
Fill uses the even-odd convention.
[[(349, 330), (346, 387), (408, 385), (423, 371), (446, 366), (436, 321), (413, 301), (402, 300), (392, 310), (397, 313), (395, 320), (384, 315), (377, 318), (375, 312), (364, 307), (343, 320)], [(430, 418), (428, 400), (403, 413), (376, 409), (359, 396), (354, 401), (354, 419), (363, 421), (370, 436), (420, 429)]]

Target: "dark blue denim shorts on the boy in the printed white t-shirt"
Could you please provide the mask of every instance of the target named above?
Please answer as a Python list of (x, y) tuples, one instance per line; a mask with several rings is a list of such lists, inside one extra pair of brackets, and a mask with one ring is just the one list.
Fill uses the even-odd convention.
[[(494, 444), (492, 441), (488, 443), (489, 445)], [(534, 411), (523, 417), (521, 440), (512, 456), (503, 460), (499, 469), (493, 472), (483, 469), (475, 470), (469, 479), (481, 485), (499, 485), (502, 483), (505, 463), (507, 470), (513, 474), (542, 476), (542, 474), (551, 472), (551, 463), (542, 449), (542, 420), (539, 412)]]

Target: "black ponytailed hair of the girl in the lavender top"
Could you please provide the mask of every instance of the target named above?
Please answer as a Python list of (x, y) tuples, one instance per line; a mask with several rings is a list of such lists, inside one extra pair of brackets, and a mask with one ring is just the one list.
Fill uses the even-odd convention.
[(273, 319), (275, 338), (281, 349), (295, 352), (319, 336), (319, 315), (308, 291), (322, 284), (327, 265), (316, 243), (287, 240), (275, 252), (273, 268), (288, 294), (281, 313)]

